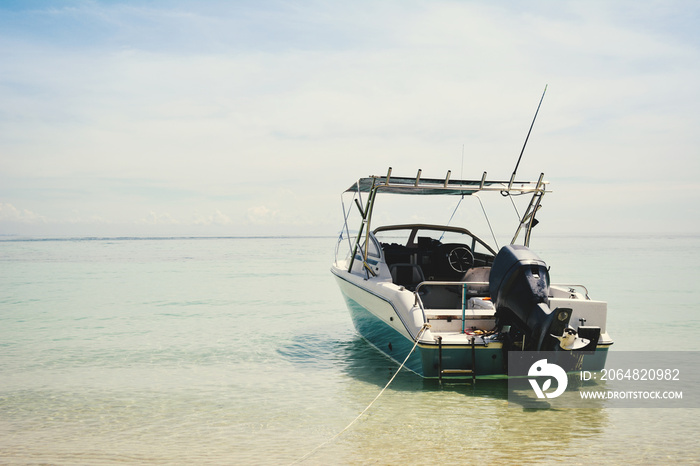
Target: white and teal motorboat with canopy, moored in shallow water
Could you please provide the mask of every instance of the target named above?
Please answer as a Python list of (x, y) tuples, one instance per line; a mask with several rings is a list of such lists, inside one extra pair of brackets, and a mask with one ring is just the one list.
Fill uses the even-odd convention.
[[(534, 182), (493, 181), (486, 173), (477, 180), (452, 180), (450, 172), (444, 179), (424, 179), (420, 170), (415, 178), (397, 178), (391, 169), (354, 183), (343, 195), (345, 225), (331, 271), (360, 335), (426, 378), (507, 374), (512, 351), (566, 351), (576, 355), (575, 369), (602, 368), (613, 343), (607, 303), (590, 299), (582, 285), (550, 283), (549, 268), (529, 249), (547, 186), (544, 174)], [(495, 235), (489, 241), (469, 225), (372, 229), (380, 194), (411, 200), (492, 194), (509, 207), (524, 195), (529, 204), (518, 214), (511, 243), (499, 248)], [(347, 196), (353, 200), (346, 208)], [(351, 233), (348, 219), (355, 207), (361, 218)], [(519, 238), (522, 245), (516, 244)]]

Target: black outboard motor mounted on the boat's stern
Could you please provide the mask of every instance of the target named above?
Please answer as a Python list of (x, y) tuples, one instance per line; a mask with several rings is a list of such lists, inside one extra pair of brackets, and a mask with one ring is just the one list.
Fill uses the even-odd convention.
[(504, 246), (493, 261), (489, 283), (499, 327), (520, 330), (526, 341), (523, 349), (552, 349), (543, 348), (543, 343), (548, 335), (564, 332), (571, 310), (549, 308), (547, 264), (525, 246)]

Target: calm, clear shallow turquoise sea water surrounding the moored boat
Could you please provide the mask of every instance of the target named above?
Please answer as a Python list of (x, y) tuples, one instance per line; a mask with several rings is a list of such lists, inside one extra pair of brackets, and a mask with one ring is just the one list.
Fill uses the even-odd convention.
[[(0, 240), (0, 463), (290, 464), (396, 370), (334, 238)], [(700, 238), (533, 238), (609, 302), (614, 350), (700, 350)], [(699, 462), (697, 409), (528, 411), (399, 373), (303, 464)]]

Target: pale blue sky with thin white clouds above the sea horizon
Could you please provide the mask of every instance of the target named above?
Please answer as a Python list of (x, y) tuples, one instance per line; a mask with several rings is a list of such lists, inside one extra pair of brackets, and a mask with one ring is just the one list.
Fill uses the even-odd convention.
[(4, 0), (0, 235), (336, 235), (388, 167), (508, 179), (545, 85), (518, 168), (550, 183), (541, 233), (698, 234), (698, 24), (690, 0)]

